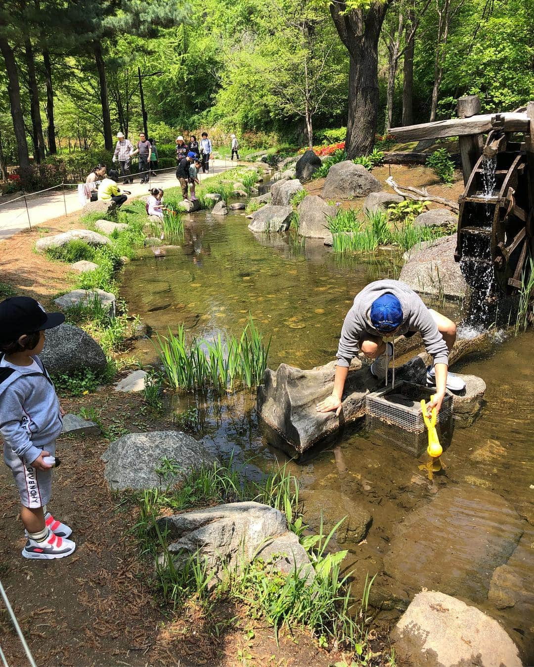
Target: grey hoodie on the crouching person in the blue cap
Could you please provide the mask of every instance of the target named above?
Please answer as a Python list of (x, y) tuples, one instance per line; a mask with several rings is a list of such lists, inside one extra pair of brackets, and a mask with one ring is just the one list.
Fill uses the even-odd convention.
[(351, 360), (359, 351), (358, 342), (363, 334), (370, 333), (371, 336), (383, 337), (383, 333), (373, 327), (370, 313), (373, 301), (385, 292), (396, 296), (403, 309), (403, 323), (395, 336), (401, 336), (407, 331), (419, 331), (434, 364), (448, 365), (449, 350), (421, 297), (400, 280), (376, 280), (357, 293), (354, 305), (345, 317), (336, 354), (337, 366), (351, 365)]

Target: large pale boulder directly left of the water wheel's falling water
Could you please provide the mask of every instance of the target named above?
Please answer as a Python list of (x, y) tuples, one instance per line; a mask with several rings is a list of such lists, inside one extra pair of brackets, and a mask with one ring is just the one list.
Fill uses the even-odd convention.
[(455, 234), (428, 243), (418, 252), (409, 254), (399, 279), (423, 294), (464, 297), (467, 283), (454, 259), (455, 249)]

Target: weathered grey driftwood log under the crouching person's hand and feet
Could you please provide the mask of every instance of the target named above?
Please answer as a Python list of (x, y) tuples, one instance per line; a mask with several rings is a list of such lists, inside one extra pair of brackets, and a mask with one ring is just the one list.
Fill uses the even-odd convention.
[[(406, 347), (409, 345), (407, 341)], [(402, 348), (399, 341), (397, 356), (403, 354)], [(451, 352), (451, 364), (467, 354), (485, 352), (489, 348), (491, 338), (487, 333), (459, 340)], [(395, 379), (422, 384), (429, 363), (430, 358), (425, 352), (419, 354), (395, 370)], [(317, 412), (317, 403), (332, 391), (334, 374), (335, 362), (311, 370), (287, 364), (281, 364), (276, 372), (267, 369), (264, 384), (257, 390), (257, 412), (263, 424), (277, 436), (273, 438), (275, 444), (303, 454), (345, 424), (361, 419), (365, 411), (365, 396), (383, 387), (383, 381), (371, 375), (369, 366), (362, 366), (359, 360), (354, 360), (345, 384), (343, 410), (339, 418), (333, 412)], [(288, 448), (288, 445), (291, 447)]]

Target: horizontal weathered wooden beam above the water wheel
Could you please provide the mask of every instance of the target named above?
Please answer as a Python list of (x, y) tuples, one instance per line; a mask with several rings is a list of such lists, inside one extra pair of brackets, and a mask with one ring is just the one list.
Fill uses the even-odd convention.
[(484, 113), (469, 118), (451, 118), (446, 121), (390, 127), (388, 133), (397, 141), (421, 141), (421, 139), (442, 139), (462, 137), (470, 134), (482, 134), (495, 127), (505, 132), (527, 132), (529, 128), (527, 113)]

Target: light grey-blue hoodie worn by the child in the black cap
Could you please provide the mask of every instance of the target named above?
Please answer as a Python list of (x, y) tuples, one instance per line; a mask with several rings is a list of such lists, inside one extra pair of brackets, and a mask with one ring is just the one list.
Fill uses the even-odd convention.
[[(0, 354), (0, 362), (4, 355)], [(41, 372), (17, 366), (0, 368), (0, 434), (26, 465), (61, 433), (59, 400), (47, 370), (32, 356)]]

